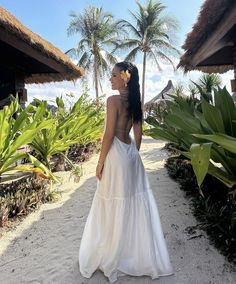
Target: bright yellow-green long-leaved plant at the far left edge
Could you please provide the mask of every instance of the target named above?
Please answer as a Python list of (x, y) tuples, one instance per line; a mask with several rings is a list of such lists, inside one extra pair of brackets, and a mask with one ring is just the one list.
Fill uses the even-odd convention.
[[(18, 115), (16, 115), (17, 112)], [(18, 98), (14, 97), (11, 97), (9, 106), (0, 110), (0, 176), (12, 170), (27, 170), (53, 178), (49, 169), (40, 161), (18, 150), (21, 146), (30, 143), (38, 131), (52, 126), (52, 120), (39, 121), (37, 119), (39, 112), (40, 110), (36, 112), (34, 119), (29, 121), (27, 110), (21, 110)], [(25, 165), (16, 166), (16, 162), (24, 158), (30, 160), (36, 168)]]

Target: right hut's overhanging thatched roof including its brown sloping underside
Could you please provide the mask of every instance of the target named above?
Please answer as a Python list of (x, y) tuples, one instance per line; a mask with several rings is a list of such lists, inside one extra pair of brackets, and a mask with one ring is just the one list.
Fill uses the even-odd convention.
[(207, 73), (234, 69), (232, 91), (236, 92), (236, 1), (206, 0), (183, 48), (178, 67)]

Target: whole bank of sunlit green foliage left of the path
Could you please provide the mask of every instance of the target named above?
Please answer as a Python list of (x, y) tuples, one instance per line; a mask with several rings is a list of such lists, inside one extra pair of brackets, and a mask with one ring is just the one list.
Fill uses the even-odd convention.
[[(9, 217), (25, 215), (39, 203), (56, 197), (52, 181), (59, 179), (51, 172), (53, 156), (62, 155), (78, 181), (82, 173), (81, 165), (75, 166), (67, 158), (66, 150), (77, 143), (94, 143), (103, 131), (104, 105), (97, 107), (96, 101), (89, 100), (87, 94), (81, 95), (69, 109), (58, 97), (55, 115), (48, 109), (47, 101), (35, 102), (23, 110), (18, 98), (12, 97), (11, 104), (0, 111), (0, 181), (6, 179), (6, 175), (3, 179), (3, 174), (12, 171), (31, 171), (38, 177), (1, 184), (0, 226)], [(26, 145), (33, 149), (32, 154), (19, 151)], [(23, 159), (29, 163), (21, 164)], [(51, 186), (39, 177), (50, 179)]]

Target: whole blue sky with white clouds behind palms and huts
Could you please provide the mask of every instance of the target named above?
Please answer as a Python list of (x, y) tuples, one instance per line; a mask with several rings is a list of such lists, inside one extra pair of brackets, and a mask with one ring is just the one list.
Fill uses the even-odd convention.
[[(145, 3), (145, 1), (140, 1)], [(191, 31), (193, 24), (196, 22), (202, 0), (162, 0), (162, 3), (167, 7), (166, 13), (173, 15), (179, 21), (180, 30), (178, 32), (178, 45), (182, 46), (186, 38), (186, 34)], [(135, 0), (0, 0), (0, 5), (6, 8), (10, 13), (18, 18), (24, 25), (30, 28), (33, 32), (39, 34), (44, 39), (50, 41), (63, 52), (71, 47), (76, 46), (79, 40), (78, 36), (67, 36), (67, 27), (70, 22), (70, 12), (83, 12), (88, 5), (100, 7), (105, 11), (111, 12), (117, 19), (130, 19), (128, 10), (136, 10)], [(122, 58), (120, 58), (122, 60)], [(141, 62), (138, 59), (137, 64), (140, 75), (142, 72)], [(178, 62), (178, 60), (176, 61)], [(174, 82), (186, 81), (187, 77), (197, 78), (199, 72), (191, 72), (187, 77), (183, 77), (181, 72), (174, 73), (170, 66), (163, 66), (163, 72), (156, 70), (155, 66), (148, 65), (147, 80), (146, 80), (146, 99), (148, 101), (158, 92), (160, 92), (169, 79)], [(75, 85), (71, 82), (62, 82), (56, 84), (41, 84), (27, 86), (29, 101), (34, 96), (41, 98), (54, 99), (55, 96), (74, 92), (76, 95), (81, 93), (81, 84)], [(104, 83), (103, 88), (105, 94), (109, 96), (110, 91), (109, 81)], [(94, 95), (91, 87), (91, 94)]]

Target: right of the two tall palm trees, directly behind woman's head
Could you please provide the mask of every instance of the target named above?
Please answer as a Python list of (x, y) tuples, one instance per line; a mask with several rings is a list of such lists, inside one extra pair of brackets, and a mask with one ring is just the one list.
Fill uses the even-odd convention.
[(158, 70), (161, 70), (160, 60), (170, 63), (175, 69), (171, 56), (179, 55), (179, 51), (173, 45), (173, 32), (177, 30), (178, 24), (174, 18), (162, 15), (166, 7), (161, 2), (148, 0), (145, 6), (142, 6), (139, 2), (137, 2), (137, 5), (138, 12), (136, 14), (130, 12), (134, 24), (126, 20), (118, 22), (122, 28), (131, 31), (133, 35), (119, 47), (131, 49), (125, 58), (127, 61), (133, 61), (140, 52), (143, 53), (143, 108), (147, 59), (151, 59)]

